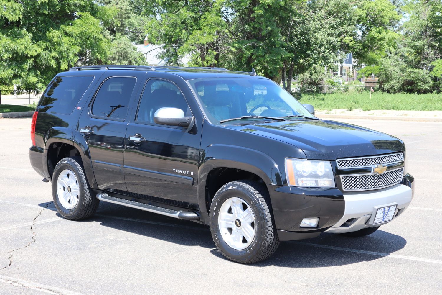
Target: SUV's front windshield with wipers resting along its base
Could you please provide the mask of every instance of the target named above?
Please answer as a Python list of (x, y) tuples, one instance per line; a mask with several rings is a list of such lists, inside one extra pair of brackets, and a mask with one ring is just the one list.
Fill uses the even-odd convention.
[[(205, 78), (189, 80), (213, 124), (241, 116), (315, 118), (293, 96), (272, 80), (256, 78)], [(243, 118), (243, 120), (271, 120)], [(231, 121), (238, 123), (238, 121)]]

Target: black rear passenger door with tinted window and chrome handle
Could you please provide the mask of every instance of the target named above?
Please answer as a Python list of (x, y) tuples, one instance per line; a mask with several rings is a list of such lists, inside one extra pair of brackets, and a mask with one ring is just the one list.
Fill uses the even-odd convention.
[(78, 130), (88, 143), (98, 188), (125, 192), (122, 165), (127, 114), (139, 80), (114, 73), (109, 70), (103, 75), (103, 82), (81, 114)]

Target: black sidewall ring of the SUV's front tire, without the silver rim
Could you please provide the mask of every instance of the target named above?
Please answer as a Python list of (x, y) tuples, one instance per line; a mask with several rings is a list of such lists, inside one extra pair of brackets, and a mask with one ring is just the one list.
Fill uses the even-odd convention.
[[(230, 247), (222, 238), (218, 226), (220, 208), (227, 199), (232, 197), (238, 197), (246, 201), (255, 214), (255, 238), (247, 248), (242, 250), (236, 250)], [(228, 187), (221, 188), (213, 198), (212, 205), (210, 207), (210, 231), (212, 233), (213, 241), (221, 250), (221, 253), (233, 261), (247, 263), (259, 253), (260, 246), (263, 244), (263, 241), (266, 238), (264, 228), (265, 222), (266, 211), (262, 207), (261, 203), (255, 197), (254, 193), (250, 192), (247, 188), (242, 187), (240, 184), (229, 185)]]

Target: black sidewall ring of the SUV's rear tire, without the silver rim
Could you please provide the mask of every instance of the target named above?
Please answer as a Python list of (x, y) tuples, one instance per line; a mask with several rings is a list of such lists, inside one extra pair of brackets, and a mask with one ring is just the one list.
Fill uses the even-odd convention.
[[(78, 172), (78, 168), (76, 165), (74, 165), (72, 162), (75, 162), (73, 159), (63, 159), (60, 161), (60, 163), (57, 164), (57, 167), (55, 167), (55, 170), (53, 172), (53, 178), (52, 178), (52, 197), (55, 204), (55, 207), (57, 208), (58, 212), (60, 212), (61, 215), (65, 217), (69, 216), (75, 216), (77, 215), (81, 210), (81, 204), (84, 200), (84, 179), (80, 176), (80, 173)], [(78, 202), (75, 205), (74, 208), (68, 210), (63, 205), (61, 205), (60, 200), (58, 199), (57, 194), (57, 181), (58, 176), (60, 175), (61, 171), (69, 169), (72, 172), (74, 172), (75, 177), (78, 181), (79, 186), (79, 192), (78, 192)]]

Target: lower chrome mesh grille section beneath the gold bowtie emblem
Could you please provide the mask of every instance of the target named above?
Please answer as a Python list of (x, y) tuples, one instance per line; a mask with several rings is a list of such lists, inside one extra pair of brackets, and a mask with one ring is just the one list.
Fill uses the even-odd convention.
[(404, 167), (382, 174), (359, 174), (341, 176), (344, 191), (363, 191), (385, 188), (400, 183), (404, 177)]

